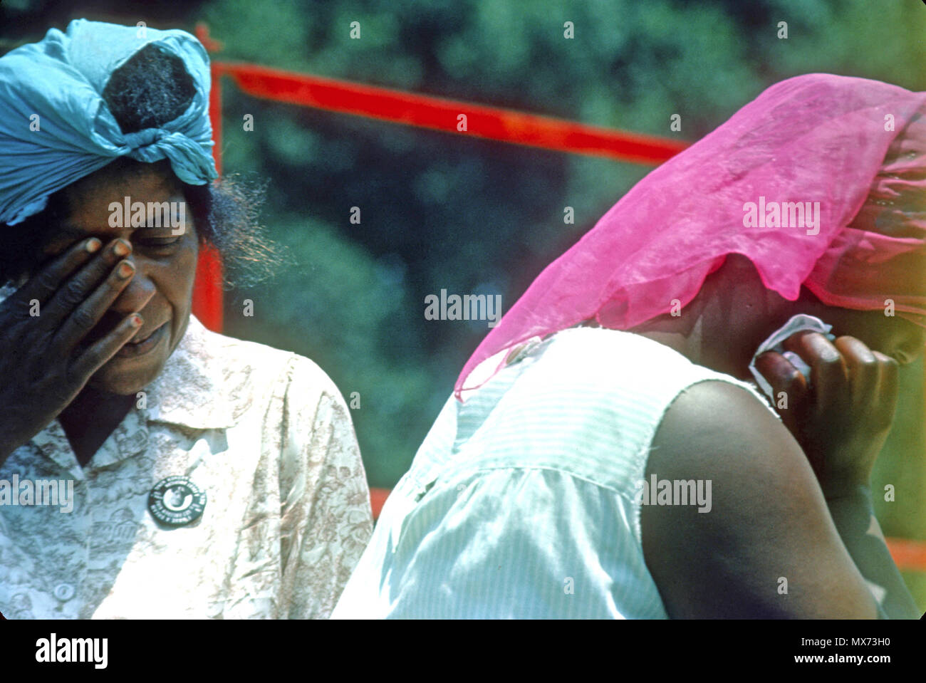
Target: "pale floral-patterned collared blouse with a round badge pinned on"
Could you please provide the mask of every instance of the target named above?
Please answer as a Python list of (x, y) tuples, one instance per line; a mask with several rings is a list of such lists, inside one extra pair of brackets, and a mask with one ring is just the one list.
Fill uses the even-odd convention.
[[(191, 317), (139, 403), (87, 466), (57, 419), (0, 466), (0, 493), (16, 476), (27, 503), (23, 481), (73, 480), (70, 512), (0, 497), (0, 613), (328, 617), (372, 532), (357, 438), (332, 380), (305, 357)], [(149, 510), (152, 488), (171, 476), (206, 494), (185, 526)]]

